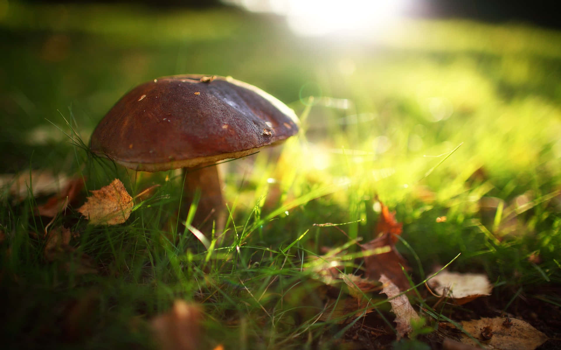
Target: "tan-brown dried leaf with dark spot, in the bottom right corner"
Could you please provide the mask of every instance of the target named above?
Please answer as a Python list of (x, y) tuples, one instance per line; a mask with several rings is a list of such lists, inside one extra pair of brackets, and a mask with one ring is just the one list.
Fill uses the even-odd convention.
[[(489, 349), (499, 350), (531, 350), (543, 344), (548, 337), (530, 324), (522, 320), (512, 319), (512, 324), (504, 324), (505, 319), (482, 318), (480, 320), (463, 321), (462, 328), (479, 340)], [(489, 339), (489, 334), (484, 337), (482, 330), (489, 329), (493, 332)], [(466, 334), (462, 334), (460, 341), (464, 344), (475, 346), (476, 343)]]

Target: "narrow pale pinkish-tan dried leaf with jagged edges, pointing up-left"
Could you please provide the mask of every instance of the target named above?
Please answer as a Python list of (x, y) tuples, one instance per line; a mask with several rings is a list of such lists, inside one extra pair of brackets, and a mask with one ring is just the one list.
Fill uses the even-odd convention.
[(385, 293), (388, 296), (389, 303), (392, 305), (392, 312), (396, 314), (397, 339), (399, 340), (411, 332), (411, 320), (418, 320), (419, 315), (411, 306), (406, 295), (398, 296), (401, 291), (388, 277), (382, 274), (379, 281), (384, 286), (381, 293)]

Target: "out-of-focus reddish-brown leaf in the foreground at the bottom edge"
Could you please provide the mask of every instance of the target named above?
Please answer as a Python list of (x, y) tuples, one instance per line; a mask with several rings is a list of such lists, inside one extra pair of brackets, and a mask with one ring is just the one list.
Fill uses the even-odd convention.
[(152, 319), (152, 330), (162, 350), (198, 350), (202, 315), (199, 306), (176, 300), (171, 310)]

